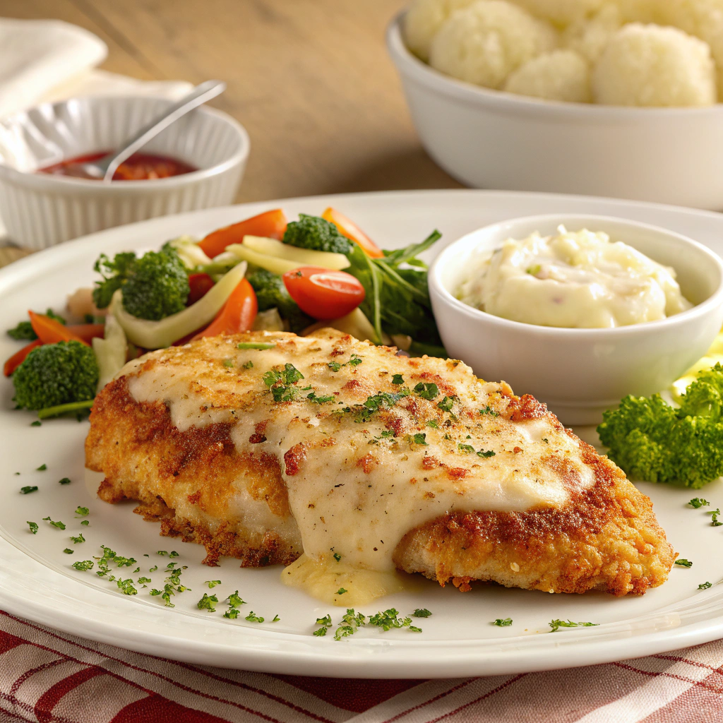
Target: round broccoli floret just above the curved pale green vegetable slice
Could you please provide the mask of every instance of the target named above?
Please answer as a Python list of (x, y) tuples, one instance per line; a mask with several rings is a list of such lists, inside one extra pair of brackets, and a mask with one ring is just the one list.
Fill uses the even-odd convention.
[(173, 249), (143, 254), (121, 288), (126, 311), (152, 321), (183, 311), (190, 291), (186, 267)]

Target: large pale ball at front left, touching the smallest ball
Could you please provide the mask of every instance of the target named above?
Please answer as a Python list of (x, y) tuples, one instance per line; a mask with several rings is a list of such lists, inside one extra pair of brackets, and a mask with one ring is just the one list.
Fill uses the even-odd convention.
[(460, 80), (500, 88), (513, 70), (558, 41), (552, 25), (507, 0), (477, 0), (442, 25), (429, 64)]

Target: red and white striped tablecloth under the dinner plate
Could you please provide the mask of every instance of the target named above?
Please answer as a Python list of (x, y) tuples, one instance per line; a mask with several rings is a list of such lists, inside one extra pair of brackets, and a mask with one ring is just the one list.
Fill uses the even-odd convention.
[(132, 653), (0, 612), (0, 723), (720, 723), (723, 641), (456, 680), (268, 675)]

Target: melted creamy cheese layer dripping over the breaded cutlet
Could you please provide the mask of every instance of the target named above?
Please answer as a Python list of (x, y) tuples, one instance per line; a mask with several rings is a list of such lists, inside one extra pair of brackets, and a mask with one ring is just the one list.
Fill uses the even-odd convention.
[[(488, 404), (502, 408), (505, 398), (499, 384), (476, 380), (460, 362), (410, 361), (365, 342), (350, 343), (348, 337), (342, 342), (339, 337), (269, 333), (268, 338), (277, 346), (264, 351), (238, 350), (228, 338), (208, 340), (188, 366), (183, 357), (189, 347), (166, 349), (146, 357), (156, 357), (160, 363), (143, 368), (135, 362), (121, 373), (130, 375), (129, 390), (137, 401), (165, 402), (181, 432), (233, 422), (231, 438), (239, 451), (271, 453), (279, 459), (308, 560), (295, 563), (289, 572), (297, 582), (307, 578), (304, 585), (322, 599), (328, 599), (338, 578), (333, 573), (322, 581), (328, 574), (320, 570), (328, 569), (331, 551), (341, 555), (343, 575), (351, 576), (348, 570), (353, 569), (393, 573), (393, 551), (404, 534), (441, 515), (560, 507), (570, 489), (594, 484), (594, 474), (580, 460), (577, 442), (547, 419), (510, 423), (479, 414), (479, 408)], [(343, 353), (335, 355), (335, 349)], [(364, 360), (358, 367), (330, 370), (329, 361), (343, 364), (351, 353)], [(231, 361), (224, 366), (229, 359), (233, 366)], [(253, 366), (244, 369), (248, 361)], [(310, 391), (302, 390), (294, 401), (273, 403), (262, 375), (286, 363), (304, 375), (297, 387), (311, 387), (317, 396), (333, 395), (335, 401), (315, 404), (306, 398)], [(334, 413), (363, 403), (380, 390), (398, 390), (390, 384), (394, 374), (402, 374), (404, 383), (414, 388), (422, 372), (453, 385), (459, 399), (458, 422), (453, 424), (450, 415), (437, 408), (441, 392), (433, 401), (412, 394), (364, 423), (356, 422), (354, 414)], [(389, 415), (403, 427), (397, 437), (382, 437)], [(438, 427), (427, 426), (429, 419), (435, 419)], [(265, 440), (251, 444), (249, 437), (257, 425), (262, 425)], [(414, 442), (415, 434), (426, 435), (427, 445)], [(450, 438), (445, 440), (445, 435)], [(474, 452), (459, 445), (469, 445)], [(284, 457), (294, 450), (296, 463), (290, 469)], [(495, 456), (481, 458), (476, 452), (482, 450), (493, 450)], [(429, 458), (439, 464), (430, 465)], [(545, 461), (551, 458), (555, 463)], [(320, 568), (312, 570), (312, 562)], [(386, 590), (389, 579), (360, 583), (355, 595), (361, 599), (372, 594), (362, 592), (364, 586)], [(351, 590), (352, 584), (341, 583), (335, 590)], [(351, 596), (343, 597), (340, 604), (351, 604), (347, 602)]]

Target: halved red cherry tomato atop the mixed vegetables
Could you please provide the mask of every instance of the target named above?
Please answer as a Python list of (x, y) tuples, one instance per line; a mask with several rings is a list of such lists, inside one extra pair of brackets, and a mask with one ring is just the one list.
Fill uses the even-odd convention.
[(301, 266), (283, 275), (286, 290), (302, 312), (315, 319), (338, 319), (364, 301), (364, 286), (345, 271)]

